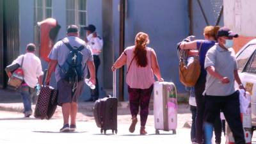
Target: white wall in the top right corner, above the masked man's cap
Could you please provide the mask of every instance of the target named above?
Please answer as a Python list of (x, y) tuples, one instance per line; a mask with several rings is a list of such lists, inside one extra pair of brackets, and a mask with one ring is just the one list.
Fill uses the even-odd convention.
[(256, 1), (224, 0), (224, 25), (243, 36), (256, 36)]

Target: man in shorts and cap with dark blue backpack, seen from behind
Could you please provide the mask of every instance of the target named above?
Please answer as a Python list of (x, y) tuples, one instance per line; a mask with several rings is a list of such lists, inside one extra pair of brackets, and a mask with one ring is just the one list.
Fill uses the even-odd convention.
[(91, 76), (89, 81), (95, 84), (92, 50), (79, 38), (77, 26), (70, 25), (67, 28), (67, 37), (54, 45), (49, 59), (51, 61), (46, 83), (49, 84), (51, 74), (55, 71), (58, 105), (62, 107), (64, 121), (60, 132), (75, 131), (77, 100), (83, 92), (84, 79), (87, 76), (86, 67), (88, 67)]

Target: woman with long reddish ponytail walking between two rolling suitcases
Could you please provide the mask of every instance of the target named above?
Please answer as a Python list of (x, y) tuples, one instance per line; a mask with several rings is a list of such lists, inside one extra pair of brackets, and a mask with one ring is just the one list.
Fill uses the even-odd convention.
[(140, 134), (147, 134), (145, 125), (148, 117), (148, 105), (150, 95), (155, 82), (154, 74), (157, 81), (163, 81), (157, 63), (156, 52), (154, 49), (147, 47), (149, 38), (147, 33), (140, 32), (135, 37), (135, 45), (127, 47), (121, 56), (116, 60), (113, 71), (123, 65), (127, 65), (126, 83), (128, 84), (130, 111), (132, 123), (129, 127), (130, 132), (135, 131), (138, 122), (137, 115), (140, 108)]

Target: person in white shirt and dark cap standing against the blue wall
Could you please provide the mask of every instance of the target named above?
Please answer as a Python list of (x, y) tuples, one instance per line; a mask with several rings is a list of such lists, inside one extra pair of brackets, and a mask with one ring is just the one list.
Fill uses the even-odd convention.
[(84, 27), (86, 30), (86, 37), (84, 38), (84, 41), (86, 44), (90, 45), (93, 53), (93, 63), (95, 65), (95, 75), (96, 75), (96, 84), (95, 84), (95, 89), (91, 90), (91, 97), (88, 100), (85, 101), (95, 101), (99, 99), (99, 83), (97, 79), (97, 73), (100, 65), (100, 53), (102, 51), (103, 47), (103, 40), (100, 38), (99, 35), (96, 33), (96, 28), (92, 24), (89, 24), (87, 27)]

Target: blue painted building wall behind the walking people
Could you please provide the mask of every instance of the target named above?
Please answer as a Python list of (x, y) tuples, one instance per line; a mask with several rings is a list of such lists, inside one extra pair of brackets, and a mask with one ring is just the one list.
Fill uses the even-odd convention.
[[(28, 0), (21, 3), (20, 0), (20, 53), (25, 52), (28, 42), (33, 42), (33, 12), (34, 1)], [(97, 33), (102, 36), (102, 1), (105, 0), (87, 0), (87, 24), (94, 24), (97, 27)], [(113, 47), (108, 47), (109, 51), (113, 51), (113, 58), (116, 60), (119, 56), (119, 0), (113, 1), (113, 26), (111, 33), (113, 34)], [(212, 4), (209, 1), (202, 2), (205, 13), (210, 24), (215, 24), (216, 18), (213, 14)], [(196, 1), (193, 1), (193, 22), (194, 35), (202, 38), (203, 28), (206, 26), (202, 13)], [(31, 14), (27, 14), (27, 12)], [(179, 60), (177, 58), (176, 44), (189, 33), (189, 17), (188, 17), (188, 1), (187, 0), (128, 0), (125, 17), (125, 47), (134, 45), (134, 37), (136, 33), (143, 31), (150, 36), (149, 47), (154, 48), (157, 53), (157, 59), (161, 68), (161, 74), (165, 81), (173, 81), (177, 85), (179, 93), (184, 92), (184, 86), (179, 82)], [(66, 35), (66, 1), (52, 1), (52, 17), (57, 19), (61, 25), (58, 39)], [(223, 17), (221, 23), (223, 25)], [(103, 54), (102, 54), (103, 55)], [(104, 97), (103, 68), (104, 61), (101, 57), (101, 65), (99, 68), (99, 84), (100, 97)], [(47, 67), (47, 63), (42, 61), (43, 67)], [(126, 67), (125, 67), (126, 69)], [(126, 71), (126, 70), (125, 70)], [(117, 76), (118, 77), (118, 76)], [(106, 83), (106, 82), (104, 82)], [(112, 83), (112, 81), (107, 81)], [(54, 76), (52, 76), (52, 84), (56, 86)], [(117, 83), (119, 85), (119, 83)], [(125, 84), (125, 99), (127, 100), (127, 85)], [(118, 95), (119, 93), (117, 93)], [(86, 86), (84, 88), (81, 100), (90, 97), (90, 90)]]

